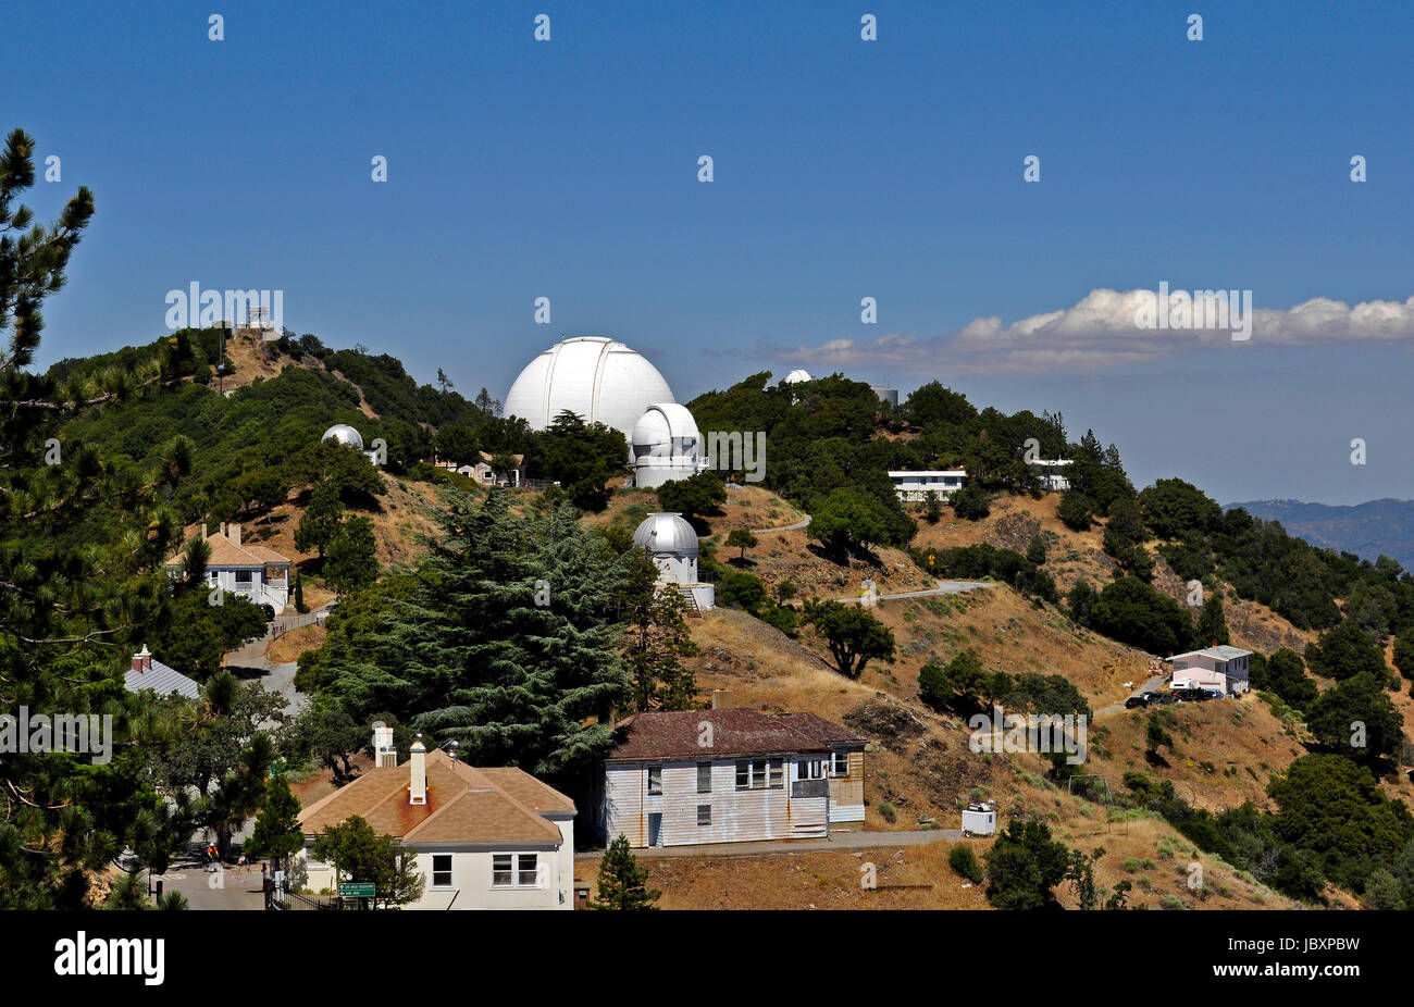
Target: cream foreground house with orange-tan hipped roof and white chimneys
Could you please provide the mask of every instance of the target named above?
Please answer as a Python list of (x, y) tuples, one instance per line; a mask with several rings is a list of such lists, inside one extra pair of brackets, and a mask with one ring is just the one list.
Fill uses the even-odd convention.
[(421, 735), (397, 762), (393, 730), (373, 726), (372, 769), (300, 813), (305, 885), (334, 890), (314, 840), (356, 815), (417, 856), (423, 897), (409, 909), (573, 909), (574, 802), (530, 774), (471, 767)]

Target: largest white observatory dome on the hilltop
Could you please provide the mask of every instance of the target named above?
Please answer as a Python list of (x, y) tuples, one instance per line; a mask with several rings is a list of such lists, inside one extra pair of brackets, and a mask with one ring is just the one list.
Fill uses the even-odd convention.
[(673, 389), (642, 355), (602, 335), (580, 335), (526, 365), (506, 395), (505, 412), (544, 430), (568, 409), (631, 438), (645, 410), (665, 402), (673, 402)]

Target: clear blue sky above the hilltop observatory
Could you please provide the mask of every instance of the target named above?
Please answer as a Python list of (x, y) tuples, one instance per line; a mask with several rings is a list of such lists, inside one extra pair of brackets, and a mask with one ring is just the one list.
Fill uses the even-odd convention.
[[(52, 218), (86, 184), (98, 205), (41, 363), (156, 338), (191, 281), (279, 289), (296, 332), (467, 395), (611, 334), (684, 402), (790, 366), (936, 378), (1094, 427), (1141, 485), (1414, 496), (1398, 4), (124, 7), (6, 13), (31, 69), (0, 126), (62, 164), (25, 202)], [(1251, 290), (1270, 324), (1233, 342), (1075, 311), (1159, 281)], [(1315, 298), (1393, 304), (1284, 321)]]

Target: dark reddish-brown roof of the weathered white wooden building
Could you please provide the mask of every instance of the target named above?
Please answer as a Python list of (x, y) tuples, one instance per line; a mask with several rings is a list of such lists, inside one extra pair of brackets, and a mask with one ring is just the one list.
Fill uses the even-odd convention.
[[(703, 724), (711, 726), (710, 745)], [(618, 724), (625, 740), (605, 761), (732, 758), (826, 752), (836, 745), (863, 745), (865, 738), (813, 713), (759, 710), (676, 710), (636, 713)]]

